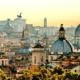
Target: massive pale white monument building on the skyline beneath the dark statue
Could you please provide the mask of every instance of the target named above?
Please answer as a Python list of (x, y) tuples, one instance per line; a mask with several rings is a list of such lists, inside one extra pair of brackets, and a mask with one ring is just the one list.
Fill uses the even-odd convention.
[[(23, 27), (26, 26), (26, 19), (22, 19), (22, 16), (17, 16), (14, 20), (8, 19), (10, 24), (13, 26), (15, 32), (22, 32)], [(0, 21), (0, 31), (3, 31), (3, 28), (7, 24), (8, 20)]]

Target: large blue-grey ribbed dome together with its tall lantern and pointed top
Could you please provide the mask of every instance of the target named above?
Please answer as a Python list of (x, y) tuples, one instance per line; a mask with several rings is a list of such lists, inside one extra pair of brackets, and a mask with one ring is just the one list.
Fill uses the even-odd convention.
[(63, 24), (61, 24), (59, 29), (59, 38), (56, 40), (51, 47), (51, 52), (58, 53), (62, 52), (64, 54), (68, 54), (69, 52), (73, 52), (73, 46), (70, 42), (68, 42), (65, 38), (65, 30)]

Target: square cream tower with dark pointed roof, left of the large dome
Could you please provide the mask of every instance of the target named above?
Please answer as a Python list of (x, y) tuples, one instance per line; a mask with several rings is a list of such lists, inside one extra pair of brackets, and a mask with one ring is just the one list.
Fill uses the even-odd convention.
[(46, 52), (44, 51), (44, 47), (37, 43), (32, 52), (32, 66), (39, 66), (45, 64), (45, 62)]

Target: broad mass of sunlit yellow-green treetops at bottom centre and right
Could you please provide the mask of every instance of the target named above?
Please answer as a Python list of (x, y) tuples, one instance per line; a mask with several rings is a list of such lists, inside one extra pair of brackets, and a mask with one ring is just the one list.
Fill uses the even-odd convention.
[(19, 80), (79, 80), (80, 75), (75, 72), (66, 72), (62, 67), (39, 67), (35, 72), (25, 70)]

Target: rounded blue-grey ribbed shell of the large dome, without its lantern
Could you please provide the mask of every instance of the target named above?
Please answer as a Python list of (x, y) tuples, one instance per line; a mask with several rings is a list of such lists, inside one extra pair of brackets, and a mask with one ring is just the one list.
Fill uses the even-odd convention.
[(58, 39), (52, 44), (51, 52), (63, 52), (65, 54), (72, 52), (73, 48), (70, 42), (66, 39)]

